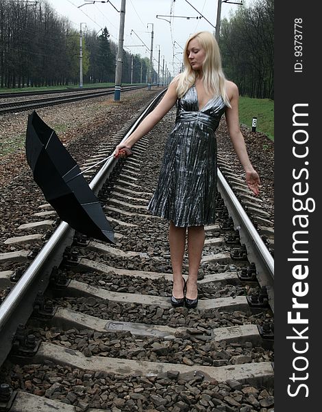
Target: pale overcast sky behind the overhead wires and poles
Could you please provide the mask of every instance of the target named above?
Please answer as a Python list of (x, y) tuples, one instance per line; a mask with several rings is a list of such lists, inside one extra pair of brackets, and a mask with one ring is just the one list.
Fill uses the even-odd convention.
[[(94, 3), (92, 0), (47, 1), (59, 16), (65, 16), (71, 21), (73, 28), (79, 30), (82, 23), (82, 30), (99, 32), (106, 26), (110, 39), (118, 43), (120, 13), (115, 8), (121, 10), (121, 0), (105, 3)], [(243, 3), (248, 5), (251, 0), (244, 0)], [(204, 18), (196, 19), (200, 14), (192, 6)], [(234, 13), (239, 7), (241, 6), (223, 2), (221, 19), (229, 18), (230, 13)], [(167, 67), (175, 76), (182, 65), (182, 51), (187, 38), (201, 30), (214, 31), (212, 25), (216, 26), (216, 12), (216, 0), (126, 0), (123, 48), (129, 53), (149, 58), (153, 27), (153, 67), (158, 71), (160, 48), (160, 71), (164, 59), (164, 69)], [(177, 17), (171, 18), (170, 15)]]

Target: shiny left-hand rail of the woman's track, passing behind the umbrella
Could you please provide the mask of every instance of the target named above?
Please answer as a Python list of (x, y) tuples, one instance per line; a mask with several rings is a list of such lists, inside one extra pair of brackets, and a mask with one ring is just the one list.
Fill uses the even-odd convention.
[[(160, 99), (161, 95), (165, 93), (165, 91), (166, 89), (164, 89), (156, 96), (156, 98), (153, 99), (153, 101), (149, 104), (149, 106), (147, 106), (145, 111), (143, 111), (138, 119), (136, 119), (133, 126), (129, 129), (121, 142), (123, 142), (129, 136), (129, 134), (133, 132), (133, 130), (145, 117), (145, 115), (147, 115), (147, 113), (149, 113), (149, 111), (151, 111), (151, 109), (156, 106), (156, 103)], [(103, 185), (110, 172), (112, 172), (112, 169), (114, 168), (114, 165), (117, 163), (117, 161), (118, 159), (114, 157), (106, 161), (106, 163), (99, 170), (94, 179), (92, 179), (92, 181), (90, 182), (90, 188), (93, 191), (98, 192), (100, 186)], [(36, 258), (27, 268), (27, 271), (25, 271), (21, 279), (18, 280), (14, 288), (12, 288), (8, 296), (5, 297), (5, 300), (0, 305), (1, 342), (3, 340), (5, 341), (5, 343), (1, 345), (0, 365), (3, 363), (6, 356), (8, 356), (8, 353), (10, 352), (12, 345), (12, 336), (14, 335), (18, 323), (27, 321), (30, 314), (32, 313), (32, 304), (36, 297), (36, 293), (39, 289), (44, 291), (47, 288), (51, 269), (53, 268), (53, 266), (55, 266), (55, 261), (57, 260), (57, 258), (53, 259), (53, 255), (55, 255), (57, 249), (60, 248), (63, 251), (64, 247), (66, 247), (67, 244), (71, 244), (74, 232), (74, 229), (72, 229), (68, 223), (61, 222), (58, 228), (55, 229), (55, 231), (49, 238), (48, 242), (44, 247), (42, 247)], [(65, 238), (67, 238), (67, 244), (66, 241), (64, 241)], [(62, 246), (63, 243), (64, 246)], [(50, 264), (49, 260), (51, 261)], [(49, 269), (47, 269), (46, 279), (42, 279), (42, 273), (41, 277), (39, 277), (40, 270), (42, 270), (42, 268), (46, 265), (49, 265)], [(35, 282), (37, 284), (37, 288), (36, 290), (33, 289), (33, 293), (30, 293), (32, 285), (34, 285)], [(21, 305), (22, 301), (23, 305)], [(28, 308), (25, 307), (26, 304)], [(19, 314), (17, 315), (18, 320), (12, 321), (12, 318), (17, 311), (19, 312)]]

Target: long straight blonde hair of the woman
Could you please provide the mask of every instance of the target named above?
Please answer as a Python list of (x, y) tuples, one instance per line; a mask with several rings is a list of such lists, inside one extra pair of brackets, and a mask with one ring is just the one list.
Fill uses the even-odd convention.
[(181, 98), (190, 87), (195, 84), (197, 72), (193, 70), (188, 59), (188, 45), (190, 41), (196, 38), (199, 44), (206, 52), (206, 58), (203, 60), (203, 86), (206, 93), (212, 95), (221, 95), (226, 106), (230, 107), (230, 101), (225, 91), (225, 75), (221, 67), (221, 54), (219, 45), (213, 34), (210, 32), (197, 32), (191, 35), (186, 41), (184, 47), (184, 71), (175, 78), (177, 80), (177, 96)]

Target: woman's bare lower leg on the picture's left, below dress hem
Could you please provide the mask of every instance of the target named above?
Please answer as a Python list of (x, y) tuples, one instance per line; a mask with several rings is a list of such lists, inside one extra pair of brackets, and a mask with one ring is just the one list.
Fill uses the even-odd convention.
[(186, 245), (186, 228), (177, 227), (170, 222), (169, 245), (173, 271), (173, 296), (177, 299), (184, 297), (182, 282), (182, 262), (184, 260), (184, 247)]

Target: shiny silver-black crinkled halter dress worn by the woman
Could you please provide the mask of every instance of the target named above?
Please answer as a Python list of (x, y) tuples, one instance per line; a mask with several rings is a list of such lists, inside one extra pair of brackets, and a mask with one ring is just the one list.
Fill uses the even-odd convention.
[(209, 225), (215, 218), (215, 131), (226, 106), (216, 96), (199, 111), (195, 85), (177, 103), (175, 127), (148, 209), (177, 227)]

